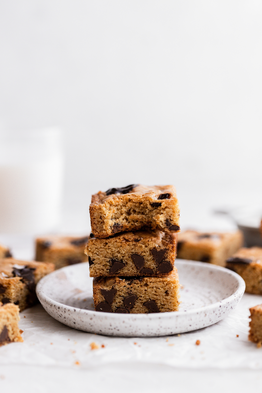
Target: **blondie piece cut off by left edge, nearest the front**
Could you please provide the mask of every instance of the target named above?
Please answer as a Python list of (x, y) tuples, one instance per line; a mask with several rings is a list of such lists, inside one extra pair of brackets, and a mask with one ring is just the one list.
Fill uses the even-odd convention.
[(19, 307), (13, 303), (0, 303), (0, 346), (24, 341), (18, 327)]

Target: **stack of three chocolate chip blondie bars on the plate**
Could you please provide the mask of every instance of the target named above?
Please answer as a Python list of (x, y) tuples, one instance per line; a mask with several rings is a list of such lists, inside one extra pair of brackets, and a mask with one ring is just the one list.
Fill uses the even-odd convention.
[(177, 311), (174, 266), (179, 206), (172, 185), (128, 185), (92, 196), (92, 233), (85, 254), (95, 310), (116, 313)]

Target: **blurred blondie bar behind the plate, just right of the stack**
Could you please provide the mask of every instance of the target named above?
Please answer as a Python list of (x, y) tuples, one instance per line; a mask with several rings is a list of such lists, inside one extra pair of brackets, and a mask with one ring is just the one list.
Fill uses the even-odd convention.
[(243, 244), (240, 231), (234, 233), (185, 231), (178, 233), (177, 257), (225, 266), (228, 257)]

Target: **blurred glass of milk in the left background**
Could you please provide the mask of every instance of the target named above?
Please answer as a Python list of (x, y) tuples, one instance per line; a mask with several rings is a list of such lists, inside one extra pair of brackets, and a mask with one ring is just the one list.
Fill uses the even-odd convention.
[(59, 129), (0, 131), (0, 233), (57, 230), (62, 182)]

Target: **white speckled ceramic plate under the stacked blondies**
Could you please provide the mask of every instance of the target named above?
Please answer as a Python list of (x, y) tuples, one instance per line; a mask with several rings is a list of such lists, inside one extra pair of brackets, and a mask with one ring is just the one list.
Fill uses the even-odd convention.
[(37, 296), (56, 320), (90, 333), (154, 337), (189, 332), (225, 318), (244, 294), (244, 280), (209, 263), (176, 260), (181, 287), (180, 310), (156, 314), (97, 312), (89, 264), (66, 266), (42, 278)]

